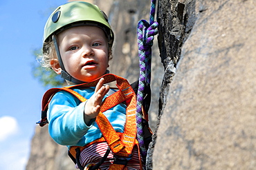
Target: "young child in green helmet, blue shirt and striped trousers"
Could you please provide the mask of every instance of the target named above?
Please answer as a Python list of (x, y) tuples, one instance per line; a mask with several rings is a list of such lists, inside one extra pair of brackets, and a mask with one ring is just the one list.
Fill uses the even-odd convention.
[[(73, 1), (58, 7), (49, 17), (44, 28), (43, 62), (66, 79), (68, 85), (91, 82), (107, 73), (114, 34), (107, 16), (97, 6), (82, 1)], [(78, 94), (87, 98), (80, 102), (72, 94), (57, 92), (48, 105), (48, 131), (60, 145), (85, 146), (102, 137), (95, 123), (102, 100), (113, 93), (101, 78), (95, 87), (75, 88)], [(117, 132), (123, 132), (126, 120), (126, 105), (120, 103), (104, 115)], [(82, 167), (98, 163), (108, 148), (107, 142), (98, 142), (86, 147), (80, 153)], [(127, 169), (141, 169), (138, 149)], [(114, 156), (110, 152), (101, 164), (109, 169)], [(77, 169), (79, 167), (76, 166)]]

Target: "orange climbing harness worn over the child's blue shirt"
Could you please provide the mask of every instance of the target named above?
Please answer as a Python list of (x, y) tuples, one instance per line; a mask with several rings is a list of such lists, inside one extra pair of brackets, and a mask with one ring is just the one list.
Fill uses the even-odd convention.
[[(115, 158), (113, 164), (111, 164), (109, 169), (122, 170), (126, 169), (125, 166), (128, 160), (131, 159), (131, 152), (132, 149), (134, 149), (134, 145), (137, 145), (138, 147), (138, 141), (136, 140), (136, 94), (134, 93), (134, 90), (132, 89), (131, 85), (129, 85), (128, 81), (125, 78), (116, 76), (114, 74), (105, 74), (102, 77), (104, 78), (104, 83), (111, 83), (112, 81), (116, 81), (116, 86), (119, 90), (105, 98), (105, 100), (103, 101), (102, 106), (100, 107), (100, 113), (98, 114), (95, 120), (98, 124), (98, 127), (100, 128), (100, 131), (102, 132), (103, 137), (89, 143), (89, 145), (95, 142), (106, 141), (109, 145), (109, 148), (113, 152)], [(73, 91), (72, 88), (95, 87), (99, 80), (100, 78), (90, 83), (49, 89), (44, 94), (42, 100), (42, 120), (39, 122), (39, 125), (43, 127), (44, 125), (46, 125), (46, 123), (48, 123), (48, 120), (46, 118), (46, 112), (48, 109), (48, 104), (50, 103), (51, 98), (55, 93), (64, 90), (66, 92), (73, 94), (81, 102), (84, 102), (86, 101), (86, 98), (84, 98), (77, 92)], [(127, 105), (125, 129), (123, 133), (117, 133), (115, 129), (113, 129), (111, 123), (109, 123), (109, 120), (106, 118), (106, 116), (102, 114), (102, 112), (124, 101)], [(69, 152), (71, 156), (73, 156), (73, 158), (76, 158), (77, 149), (79, 149), (79, 151), (82, 151), (82, 149), (84, 149), (85, 147), (88, 147), (88, 145), (84, 147), (71, 147)], [(140, 151), (139, 147), (138, 151)], [(140, 167), (142, 169), (141, 161)]]

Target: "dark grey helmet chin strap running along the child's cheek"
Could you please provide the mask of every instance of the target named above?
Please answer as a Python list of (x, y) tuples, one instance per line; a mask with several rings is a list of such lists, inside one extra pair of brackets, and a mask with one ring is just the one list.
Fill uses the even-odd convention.
[(77, 80), (76, 78), (73, 78), (73, 76), (71, 76), (70, 74), (68, 74), (68, 72), (66, 72), (64, 64), (62, 62), (62, 57), (60, 56), (60, 50), (59, 50), (59, 46), (57, 45), (56, 36), (53, 35), (52, 38), (53, 38), (53, 43), (54, 43), (55, 50), (56, 50), (56, 53), (57, 53), (57, 58), (58, 58), (58, 61), (60, 63), (60, 68), (62, 69), (62, 72), (60, 74), (62, 76), (62, 78), (64, 78), (67, 81), (71, 81), (72, 83), (75, 83), (75, 84), (86, 83), (85, 81), (80, 81), (80, 80)]

